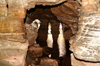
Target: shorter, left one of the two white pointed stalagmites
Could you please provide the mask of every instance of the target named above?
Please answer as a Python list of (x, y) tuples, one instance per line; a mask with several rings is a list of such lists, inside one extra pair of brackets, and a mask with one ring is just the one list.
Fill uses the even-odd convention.
[[(47, 35), (47, 46), (52, 48), (53, 47), (53, 37), (51, 34), (51, 24), (49, 23), (48, 26), (48, 35)], [(49, 55), (49, 57), (51, 57), (51, 54)]]

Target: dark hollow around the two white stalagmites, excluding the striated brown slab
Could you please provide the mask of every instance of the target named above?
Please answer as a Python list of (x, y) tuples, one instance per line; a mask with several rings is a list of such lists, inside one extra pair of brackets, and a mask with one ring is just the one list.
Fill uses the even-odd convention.
[[(59, 23), (61, 21), (57, 20), (56, 16), (52, 13), (50, 6), (36, 6), (35, 8), (30, 9), (27, 11), (27, 17), (29, 20), (27, 21), (28, 24), (31, 24), (33, 20), (39, 19), (41, 21), (41, 26), (38, 30), (38, 36), (36, 39), (37, 44), (41, 47), (47, 47), (47, 34), (48, 34), (48, 23), (51, 23), (51, 33), (53, 35), (53, 48), (52, 50), (47, 52), (52, 53), (51, 59), (55, 59), (58, 61), (59, 66), (71, 66), (70, 60), (70, 51), (69, 51), (69, 38), (72, 36), (71, 29), (68, 25), (63, 24), (63, 31), (66, 43), (66, 56), (63, 58), (59, 58), (59, 49), (57, 44), (57, 38), (59, 34)], [(27, 18), (26, 17), (26, 18)], [(66, 36), (67, 35), (67, 36)], [(48, 55), (43, 54), (42, 57), (48, 57)], [(26, 59), (27, 61), (29, 59)], [(38, 64), (38, 63), (37, 63)]]

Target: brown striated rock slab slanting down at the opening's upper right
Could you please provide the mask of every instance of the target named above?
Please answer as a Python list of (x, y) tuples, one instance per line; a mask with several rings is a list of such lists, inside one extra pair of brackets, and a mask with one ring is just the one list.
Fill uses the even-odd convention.
[(59, 21), (62, 21), (71, 28), (73, 34), (77, 32), (80, 6), (77, 5), (76, 1), (65, 2), (51, 8), (51, 11)]

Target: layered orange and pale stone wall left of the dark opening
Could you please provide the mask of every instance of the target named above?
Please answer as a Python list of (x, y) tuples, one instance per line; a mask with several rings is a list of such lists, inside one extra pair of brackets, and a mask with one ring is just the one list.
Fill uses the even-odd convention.
[(26, 10), (21, 0), (0, 0), (0, 66), (24, 66)]

